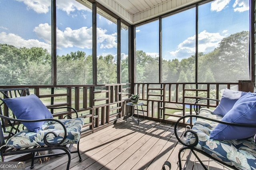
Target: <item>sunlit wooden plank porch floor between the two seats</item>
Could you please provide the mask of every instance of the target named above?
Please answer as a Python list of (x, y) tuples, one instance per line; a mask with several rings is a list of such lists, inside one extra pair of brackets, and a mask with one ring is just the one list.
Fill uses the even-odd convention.
[[(179, 135), (184, 132), (178, 129)], [(121, 121), (80, 139), (82, 162), (72, 154), (70, 170), (161, 170), (166, 160), (178, 169), (178, 151), (182, 147), (174, 135), (174, 125), (144, 120), (140, 124)], [(76, 149), (76, 145), (73, 146)], [(182, 169), (201, 170), (193, 155), (182, 153)], [(209, 170), (228, 168), (199, 155)], [(53, 156), (35, 164), (34, 170), (66, 170), (67, 156)], [(26, 161), (30, 170), (30, 160)]]

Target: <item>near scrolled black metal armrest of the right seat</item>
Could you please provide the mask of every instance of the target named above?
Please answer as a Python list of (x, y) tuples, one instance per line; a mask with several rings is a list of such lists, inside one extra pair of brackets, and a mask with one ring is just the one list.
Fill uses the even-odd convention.
[(186, 134), (188, 132), (190, 133), (193, 133), (193, 135), (195, 135), (196, 137), (196, 141), (195, 143), (193, 144), (187, 144), (187, 143), (184, 143), (183, 141), (180, 140), (180, 137), (178, 136), (178, 133), (177, 133), (177, 126), (178, 126), (178, 123), (182, 120), (182, 119), (185, 119), (186, 117), (190, 117), (190, 119), (192, 117), (196, 117), (196, 118), (200, 118), (200, 119), (205, 119), (205, 120), (209, 120), (209, 121), (214, 121), (214, 122), (217, 122), (217, 123), (222, 123), (222, 124), (225, 124), (225, 125), (230, 125), (230, 126), (238, 126), (238, 127), (254, 127), (256, 128), (256, 124), (242, 124), (242, 123), (230, 123), (230, 122), (226, 122), (226, 121), (220, 121), (220, 120), (216, 120), (216, 119), (211, 119), (211, 118), (208, 118), (208, 117), (204, 117), (204, 116), (200, 116), (200, 115), (184, 115), (182, 117), (180, 117), (175, 125), (174, 125), (174, 134), (176, 136), (176, 138), (178, 139), (178, 141), (186, 146), (186, 147), (194, 147), (198, 144), (198, 136), (196, 135), (196, 132), (194, 132), (193, 130), (186, 130), (185, 133), (184, 133), (184, 137), (186, 137)]

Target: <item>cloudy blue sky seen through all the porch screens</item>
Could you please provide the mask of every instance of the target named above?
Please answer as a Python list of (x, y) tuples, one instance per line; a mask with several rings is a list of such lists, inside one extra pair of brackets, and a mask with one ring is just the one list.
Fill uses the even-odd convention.
[[(39, 2), (39, 3), (38, 3)], [(61, 4), (58, 4), (61, 2)], [(199, 7), (199, 51), (208, 53), (224, 37), (249, 30), (248, 0), (216, 0)], [(57, 54), (92, 54), (92, 13), (75, 0), (57, 1)], [(0, 0), (0, 43), (51, 48), (50, 0)], [(185, 18), (185, 19), (183, 19)], [(163, 20), (163, 58), (190, 57), (195, 51), (195, 9)], [(158, 21), (137, 27), (136, 49), (158, 56)], [(97, 16), (97, 55), (116, 57), (116, 24)], [(122, 57), (128, 55), (128, 30), (122, 30)]]

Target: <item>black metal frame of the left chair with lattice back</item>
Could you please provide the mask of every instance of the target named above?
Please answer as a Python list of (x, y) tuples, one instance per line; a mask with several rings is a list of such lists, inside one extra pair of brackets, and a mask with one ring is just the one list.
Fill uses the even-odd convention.
[[(3, 94), (4, 98), (12, 98), (13, 95), (15, 97), (20, 97), (20, 96), (27, 96), (30, 95), (29, 92), (29, 88), (9, 88), (9, 89), (0, 89), (0, 93)], [(8, 156), (8, 155), (15, 155), (15, 154), (24, 154), (24, 153), (32, 153), (32, 162), (31, 162), (31, 166), (30, 168), (34, 168), (34, 159), (35, 158), (43, 158), (43, 157), (50, 157), (50, 156), (58, 156), (58, 155), (64, 155), (67, 154), (68, 155), (68, 164), (67, 164), (67, 170), (69, 169), (70, 166), (70, 162), (71, 162), (71, 153), (78, 153), (79, 156), (79, 161), (82, 161), (80, 152), (79, 152), (79, 141), (77, 143), (77, 150), (75, 151), (70, 151), (68, 149), (68, 147), (66, 145), (61, 145), (61, 143), (66, 139), (66, 134), (67, 134), (67, 129), (65, 127), (65, 125), (59, 121), (58, 119), (40, 119), (40, 120), (21, 120), (21, 119), (16, 119), (15, 115), (13, 115), (12, 113), (10, 114), (12, 117), (9, 117), (9, 111), (8, 111), (8, 107), (6, 106), (6, 104), (4, 104), (1, 96), (0, 96), (0, 118), (1, 118), (1, 124), (0, 124), (0, 152), (1, 152), (1, 157), (2, 157), (2, 161), (4, 161), (4, 156)], [(4, 107), (3, 107), (4, 106)], [(62, 108), (69, 108), (72, 109), (74, 111), (74, 113), (76, 113), (76, 118), (78, 118), (78, 113), (77, 111), (72, 108), (72, 107), (48, 107), (49, 109), (62, 109)], [(5, 113), (5, 115), (4, 115)], [(6, 116), (8, 115), (8, 116)], [(68, 117), (69, 119), (71, 119), (70, 115), (66, 115), (64, 118)], [(13, 135), (15, 135), (16, 133), (20, 132), (20, 125), (22, 125), (21, 122), (39, 122), (39, 121), (56, 121), (58, 123), (60, 123), (60, 125), (62, 125), (63, 129), (64, 129), (64, 138), (62, 139), (62, 141), (59, 141), (56, 145), (52, 145), (50, 143), (48, 143), (48, 141), (46, 140), (46, 137), (48, 136), (48, 134), (52, 133), (54, 134), (54, 136), (56, 137), (56, 133), (54, 132), (48, 132), (44, 135), (44, 143), (46, 144), (45, 147), (30, 147), (30, 148), (22, 148), (22, 149), (13, 149), (10, 147), (6, 146), (6, 140), (10, 139)], [(17, 126), (17, 127), (15, 127)], [(10, 130), (7, 130), (7, 127)], [(24, 126), (23, 126), (24, 128)], [(53, 154), (44, 154), (44, 155), (36, 155), (36, 152), (40, 152), (40, 151), (46, 151), (46, 150), (55, 150), (55, 149), (60, 149), (63, 150), (64, 152), (62, 153), (53, 153)]]

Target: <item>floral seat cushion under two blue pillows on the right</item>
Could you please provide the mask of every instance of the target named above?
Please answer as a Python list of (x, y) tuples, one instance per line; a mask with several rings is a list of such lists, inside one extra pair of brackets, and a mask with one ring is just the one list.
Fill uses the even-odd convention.
[[(212, 110), (207, 108), (201, 108), (199, 115), (217, 120), (222, 119), (222, 116), (214, 115)], [(226, 141), (210, 139), (210, 133), (217, 124), (204, 119), (196, 120), (192, 130), (198, 135), (199, 142), (195, 148), (203, 150), (221, 162), (235, 166), (238, 169), (256, 170), (256, 143), (254, 143), (254, 138)], [(187, 143), (192, 144), (194, 141), (195, 137), (192, 133), (188, 133)]]

